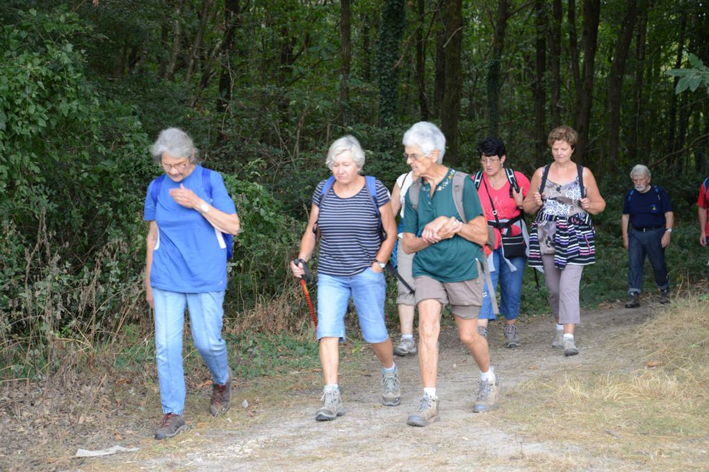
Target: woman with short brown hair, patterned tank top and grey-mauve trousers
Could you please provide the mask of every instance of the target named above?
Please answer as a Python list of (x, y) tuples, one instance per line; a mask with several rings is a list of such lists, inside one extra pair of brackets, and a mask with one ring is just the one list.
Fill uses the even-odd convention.
[(543, 267), (549, 304), (557, 320), (552, 347), (579, 354), (574, 327), (581, 321), (579, 284), (584, 265), (596, 261), (595, 230), (589, 214), (605, 209), (593, 173), (571, 161), (579, 135), (569, 126), (552, 129), (547, 143), (554, 162), (532, 175), (525, 212), (537, 214), (530, 234), (530, 267)]

